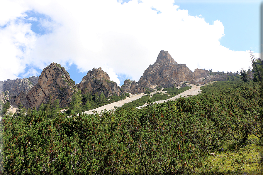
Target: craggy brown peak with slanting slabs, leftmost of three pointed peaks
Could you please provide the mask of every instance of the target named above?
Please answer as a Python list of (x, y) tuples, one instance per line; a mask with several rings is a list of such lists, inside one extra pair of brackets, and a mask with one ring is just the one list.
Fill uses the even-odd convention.
[(66, 107), (71, 101), (73, 92), (77, 91), (77, 86), (70, 79), (67, 70), (53, 62), (42, 71), (38, 83), (28, 93), (22, 91), (15, 98), (15, 104), (21, 102), (26, 108), (38, 108), (41, 103), (46, 104), (50, 97), (51, 103), (58, 99), (60, 107)]

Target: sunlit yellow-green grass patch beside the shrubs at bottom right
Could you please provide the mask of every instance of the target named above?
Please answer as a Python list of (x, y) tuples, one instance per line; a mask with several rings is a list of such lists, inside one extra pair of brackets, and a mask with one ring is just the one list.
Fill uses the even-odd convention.
[(216, 156), (203, 156), (194, 174), (260, 174), (258, 139), (250, 136), (240, 148), (231, 148), (233, 144), (228, 140), (223, 145), (223, 152), (215, 151)]

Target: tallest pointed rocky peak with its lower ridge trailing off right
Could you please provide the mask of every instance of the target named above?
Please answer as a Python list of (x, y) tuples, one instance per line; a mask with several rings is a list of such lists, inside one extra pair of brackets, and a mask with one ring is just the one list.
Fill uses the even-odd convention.
[(228, 80), (229, 76), (237, 75), (222, 72), (210, 72), (195, 69), (192, 72), (185, 64), (178, 64), (167, 51), (160, 51), (157, 60), (143, 73), (138, 82), (125, 80), (121, 88), (128, 93), (143, 93), (156, 87), (178, 87), (182, 83), (203, 85), (211, 81)]

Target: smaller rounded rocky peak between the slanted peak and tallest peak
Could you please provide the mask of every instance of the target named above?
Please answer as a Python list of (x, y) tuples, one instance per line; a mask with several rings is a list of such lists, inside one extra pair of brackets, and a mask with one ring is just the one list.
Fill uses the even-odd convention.
[(89, 70), (87, 75), (82, 78), (82, 81), (78, 84), (78, 89), (82, 94), (104, 94), (105, 97), (112, 95), (123, 95), (123, 91), (117, 85), (117, 83), (110, 80), (109, 75), (101, 70), (101, 67), (92, 71)]

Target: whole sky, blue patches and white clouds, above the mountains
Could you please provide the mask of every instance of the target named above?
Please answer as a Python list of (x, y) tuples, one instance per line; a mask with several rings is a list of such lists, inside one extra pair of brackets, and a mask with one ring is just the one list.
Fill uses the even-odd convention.
[(259, 57), (257, 0), (0, 1), (0, 81), (39, 76), (52, 62), (80, 83), (101, 67), (138, 81), (161, 50), (177, 63), (236, 72)]

